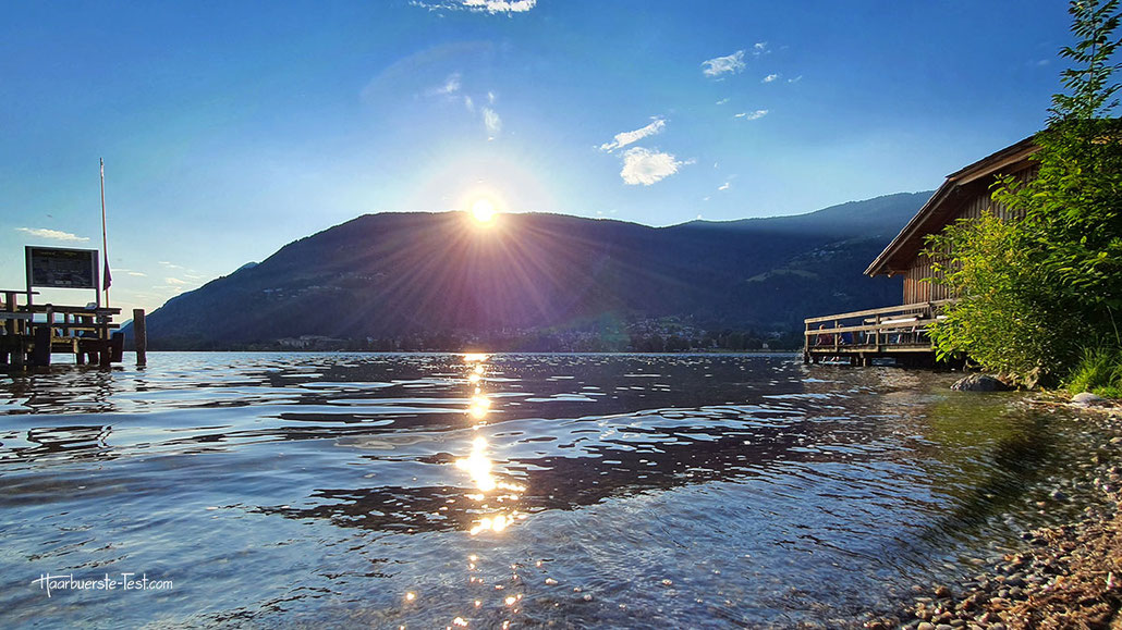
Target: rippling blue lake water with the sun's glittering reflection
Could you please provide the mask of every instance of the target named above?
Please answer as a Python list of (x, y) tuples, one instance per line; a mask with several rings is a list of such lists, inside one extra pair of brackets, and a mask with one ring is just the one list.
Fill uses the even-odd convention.
[(283, 353), (0, 376), (0, 623), (854, 624), (1066, 516), (1034, 501), (1079, 432), (954, 379)]

